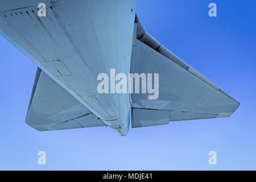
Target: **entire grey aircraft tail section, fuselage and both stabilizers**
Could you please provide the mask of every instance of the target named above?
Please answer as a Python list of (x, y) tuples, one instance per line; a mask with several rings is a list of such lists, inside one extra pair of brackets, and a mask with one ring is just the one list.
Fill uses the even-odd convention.
[[(46, 3), (46, 17), (37, 15), (41, 2)], [(26, 119), (29, 125), (40, 131), (108, 125), (126, 135), (132, 106), (138, 114), (133, 115), (133, 127), (228, 117), (237, 109), (236, 100), (147, 34), (135, 16), (135, 4), (135, 0), (0, 2), (1, 34), (40, 68)], [(113, 68), (125, 75), (159, 73), (159, 99), (98, 93), (98, 74), (110, 75)], [(63, 97), (57, 103), (46, 94), (51, 87), (63, 94), (54, 96)], [(51, 105), (44, 100), (59, 108), (49, 110)], [(154, 113), (154, 119), (148, 121), (146, 113)]]

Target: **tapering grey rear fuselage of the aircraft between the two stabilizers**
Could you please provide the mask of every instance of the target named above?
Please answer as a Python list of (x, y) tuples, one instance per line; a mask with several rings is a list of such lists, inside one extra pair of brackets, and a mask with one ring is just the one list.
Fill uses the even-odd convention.
[(37, 1), (10, 2), (0, 2), (2, 34), (82, 105), (127, 134), (130, 95), (98, 93), (97, 76), (110, 69), (129, 74), (135, 0), (40, 1), (46, 17), (36, 14)]

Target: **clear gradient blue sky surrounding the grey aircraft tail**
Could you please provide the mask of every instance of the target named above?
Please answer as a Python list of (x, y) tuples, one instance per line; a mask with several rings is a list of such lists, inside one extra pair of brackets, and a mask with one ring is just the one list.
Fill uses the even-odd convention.
[[(210, 2), (217, 17), (208, 16)], [(137, 14), (155, 39), (241, 106), (230, 118), (39, 132), (25, 117), (36, 65), (0, 37), (0, 169), (256, 169), (256, 1), (140, 0)], [(38, 151), (47, 154), (39, 166)], [(217, 165), (208, 152), (217, 152)]]

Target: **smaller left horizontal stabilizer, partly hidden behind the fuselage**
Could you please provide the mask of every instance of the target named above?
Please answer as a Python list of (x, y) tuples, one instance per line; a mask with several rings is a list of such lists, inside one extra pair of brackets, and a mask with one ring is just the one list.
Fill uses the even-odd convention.
[(39, 131), (106, 126), (39, 68), (26, 123)]

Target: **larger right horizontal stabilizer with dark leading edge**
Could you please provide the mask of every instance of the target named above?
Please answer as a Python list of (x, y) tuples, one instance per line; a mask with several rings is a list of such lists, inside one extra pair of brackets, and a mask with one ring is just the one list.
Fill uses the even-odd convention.
[[(157, 100), (148, 100), (148, 94), (131, 94), (133, 127), (164, 125), (169, 121), (229, 117), (240, 105), (152, 38), (143, 29), (137, 16), (131, 73), (159, 74)], [(152, 85), (155, 85), (153, 78)]]

